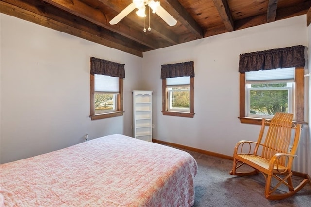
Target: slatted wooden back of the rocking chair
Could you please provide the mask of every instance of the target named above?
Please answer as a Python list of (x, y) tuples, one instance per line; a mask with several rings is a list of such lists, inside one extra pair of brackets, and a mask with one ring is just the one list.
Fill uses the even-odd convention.
[[(293, 114), (279, 113), (271, 120), (266, 121), (269, 129), (263, 143), (261, 156), (271, 159), (276, 153), (287, 153), (291, 142)], [(295, 154), (291, 152), (290, 154)], [(285, 164), (285, 157), (279, 160), (279, 164)]]

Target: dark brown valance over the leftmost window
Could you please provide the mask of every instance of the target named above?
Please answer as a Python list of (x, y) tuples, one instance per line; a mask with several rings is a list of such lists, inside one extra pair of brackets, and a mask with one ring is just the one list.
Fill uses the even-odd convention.
[(124, 64), (91, 57), (91, 74), (125, 78)]

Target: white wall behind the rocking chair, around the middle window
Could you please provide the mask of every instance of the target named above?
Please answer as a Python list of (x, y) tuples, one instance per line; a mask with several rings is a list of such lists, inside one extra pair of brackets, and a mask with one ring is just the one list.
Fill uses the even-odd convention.
[[(256, 141), (260, 126), (237, 118), (239, 55), (294, 45), (308, 46), (305, 15), (145, 52), (144, 89), (154, 91), (153, 137), (228, 156), (239, 140)], [(163, 116), (161, 65), (186, 61), (194, 61), (194, 118)]]

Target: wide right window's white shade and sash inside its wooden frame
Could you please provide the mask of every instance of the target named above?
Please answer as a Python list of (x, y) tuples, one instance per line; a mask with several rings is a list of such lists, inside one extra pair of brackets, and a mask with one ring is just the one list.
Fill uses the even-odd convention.
[(294, 112), (294, 68), (246, 72), (246, 116), (272, 118)]

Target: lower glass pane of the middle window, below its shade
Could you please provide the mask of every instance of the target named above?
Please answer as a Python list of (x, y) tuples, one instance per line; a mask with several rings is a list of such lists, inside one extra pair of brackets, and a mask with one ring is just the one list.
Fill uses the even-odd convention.
[(168, 111), (190, 111), (190, 87), (168, 88)]

